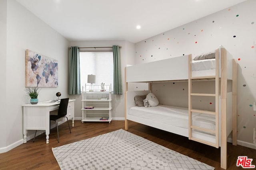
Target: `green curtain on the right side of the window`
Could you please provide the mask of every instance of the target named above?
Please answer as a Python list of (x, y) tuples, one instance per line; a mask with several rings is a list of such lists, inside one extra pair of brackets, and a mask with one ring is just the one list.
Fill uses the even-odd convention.
[(114, 94), (122, 94), (120, 47), (118, 45), (113, 45), (112, 48), (114, 61)]

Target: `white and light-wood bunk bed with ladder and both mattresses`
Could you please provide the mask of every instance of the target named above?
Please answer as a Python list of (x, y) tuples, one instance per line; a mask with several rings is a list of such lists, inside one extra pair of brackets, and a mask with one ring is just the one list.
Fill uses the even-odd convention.
[[(236, 125), (236, 60), (220, 46), (213, 52), (184, 55), (125, 68), (125, 129), (128, 120), (188, 137), (213, 147), (221, 147), (221, 168), (227, 168), (227, 137), (232, 132), (233, 145), (237, 140)], [(214, 81), (215, 93), (193, 93), (192, 82)], [(188, 82), (188, 108), (176, 106), (138, 107), (135, 96), (151, 93), (151, 83)], [(232, 88), (228, 88), (231, 81)], [(132, 82), (147, 82), (148, 90), (128, 91)], [(230, 84), (230, 83), (229, 83)], [(193, 96), (215, 98), (215, 111), (192, 107)], [(232, 121), (230, 121), (232, 120)], [(179, 123), (177, 123), (179, 122)]]

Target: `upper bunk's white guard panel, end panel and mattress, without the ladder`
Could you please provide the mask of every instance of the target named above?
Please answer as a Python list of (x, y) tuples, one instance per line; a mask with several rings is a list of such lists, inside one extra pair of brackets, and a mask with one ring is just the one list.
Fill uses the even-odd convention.
[[(218, 54), (218, 55), (216, 55)], [(233, 57), (226, 49), (219, 47), (214, 52), (197, 56), (192, 61), (192, 77), (214, 76), (216, 74), (216, 56), (219, 57), (219, 77), (226, 70), (227, 78), (232, 80)], [(126, 67), (126, 82), (160, 82), (188, 80), (188, 61), (192, 55), (136, 64)], [(221, 63), (223, 63), (221, 65)], [(221, 68), (222, 66), (222, 68)], [(224, 69), (225, 68), (225, 69)]]

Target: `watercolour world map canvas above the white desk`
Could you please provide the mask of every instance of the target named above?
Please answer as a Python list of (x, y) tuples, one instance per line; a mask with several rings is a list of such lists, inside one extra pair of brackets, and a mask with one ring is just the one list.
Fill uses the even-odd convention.
[(58, 87), (58, 61), (26, 50), (26, 87)]

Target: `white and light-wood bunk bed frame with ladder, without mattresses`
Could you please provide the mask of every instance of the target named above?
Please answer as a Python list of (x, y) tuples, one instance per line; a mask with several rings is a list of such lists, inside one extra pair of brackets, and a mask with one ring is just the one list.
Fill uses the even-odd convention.
[[(217, 62), (218, 61), (218, 62)], [(150, 63), (137, 64), (125, 68), (125, 129), (128, 130), (128, 120), (142, 123), (144, 125), (156, 127), (171, 133), (176, 133), (188, 137), (191, 140), (204, 143), (213, 147), (221, 147), (221, 168), (227, 168), (227, 137), (232, 131), (232, 143), (237, 145), (237, 63), (232, 58), (230, 53), (222, 46), (215, 50), (215, 73), (209, 76), (195, 76), (192, 72), (192, 55), (185, 55)], [(177, 64), (178, 63), (178, 64)], [(178, 68), (177, 68), (178, 65)], [(157, 67), (158, 66), (158, 67)], [(154, 69), (152, 69), (154, 68)], [(200, 75), (200, 74), (198, 74)], [(192, 93), (192, 81), (197, 80), (214, 80), (215, 94), (198, 94)], [(232, 92), (228, 92), (228, 80), (232, 80)], [(130, 107), (135, 106), (132, 95), (145, 95), (150, 91), (128, 91), (129, 82), (147, 82), (148, 89), (151, 90), (150, 83), (153, 82), (176, 82), (188, 81), (188, 132), (180, 132), (179, 128), (159, 125), (154, 121), (147, 121), (146, 119), (137, 118), (128, 114)], [(220, 89), (219, 89), (220, 82)], [(231, 95), (230, 95), (231, 93)], [(128, 94), (128, 95), (127, 95)], [(219, 96), (220, 94), (220, 96)], [(213, 96), (215, 97), (216, 108), (215, 111), (205, 111), (193, 109), (191, 104), (192, 96)], [(232, 100), (231, 113), (227, 111), (229, 100)], [(204, 114), (213, 114), (216, 116), (216, 131), (209, 131), (204, 128), (195, 127), (192, 123), (192, 111)], [(232, 121), (230, 121), (232, 119)], [(215, 133), (216, 142), (209, 143), (196, 139), (192, 135), (192, 129), (205, 131), (206, 133)]]

